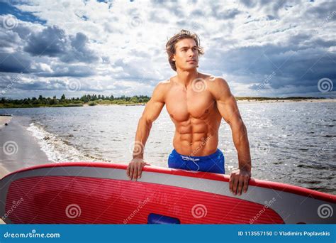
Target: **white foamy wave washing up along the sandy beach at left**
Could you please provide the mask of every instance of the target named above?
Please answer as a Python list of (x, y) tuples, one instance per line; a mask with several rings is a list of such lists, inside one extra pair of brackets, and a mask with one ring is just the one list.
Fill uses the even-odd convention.
[(83, 156), (73, 146), (65, 144), (57, 135), (45, 131), (38, 124), (30, 123), (27, 130), (38, 139), (41, 150), (52, 162), (94, 161), (93, 158)]

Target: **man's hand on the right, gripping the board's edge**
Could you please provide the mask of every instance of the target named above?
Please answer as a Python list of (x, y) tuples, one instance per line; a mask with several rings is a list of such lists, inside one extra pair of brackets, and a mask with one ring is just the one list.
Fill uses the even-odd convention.
[(244, 169), (236, 169), (231, 172), (229, 181), (230, 192), (233, 195), (242, 195), (242, 190), (244, 190), (244, 193), (246, 193), (250, 178), (251, 172)]

